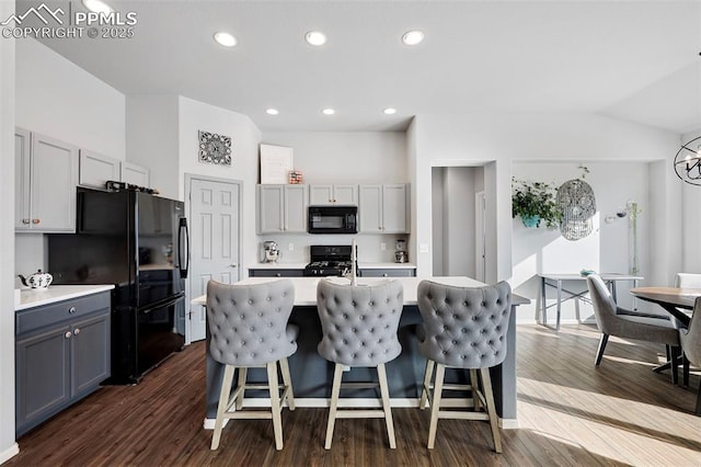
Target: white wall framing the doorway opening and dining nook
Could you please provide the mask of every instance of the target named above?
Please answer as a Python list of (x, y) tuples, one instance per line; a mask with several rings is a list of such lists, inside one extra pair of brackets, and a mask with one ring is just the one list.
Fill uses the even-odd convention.
[[(517, 114), (517, 115), (422, 115), (414, 118), (412, 144), (415, 145), (413, 201), (418, 200), (413, 218), (410, 247), (424, 243), (425, 253), (414, 254), (420, 274), (429, 274), (433, 265), (430, 242), (430, 170), (432, 166), (475, 164), (494, 161), (494, 172), (485, 167), (487, 205), (493, 203), (495, 221), (487, 223), (487, 241), (495, 239), (496, 262), (487, 264), (495, 274), (487, 280), (512, 276), (510, 167), (513, 160), (573, 162), (593, 160), (644, 160), (668, 158), (678, 148), (678, 135), (642, 125), (584, 114)], [(413, 157), (413, 156), (412, 156)], [(665, 225), (654, 248), (662, 260), (656, 274), (667, 276), (680, 261), (680, 234), (676, 187), (670, 185), (670, 164), (653, 175), (665, 203)], [(667, 164), (665, 166), (667, 167)], [(493, 176), (492, 176), (493, 175)], [(674, 176), (674, 175), (673, 175)], [(487, 215), (490, 208), (487, 207)], [(675, 242), (674, 240), (677, 239)], [(487, 246), (487, 248), (490, 248)], [(415, 250), (414, 250), (415, 253)]]

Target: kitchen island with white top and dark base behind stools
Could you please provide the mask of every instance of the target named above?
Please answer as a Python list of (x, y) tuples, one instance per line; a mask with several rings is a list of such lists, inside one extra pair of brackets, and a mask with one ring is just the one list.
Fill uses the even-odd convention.
[[(423, 280), (432, 280), (448, 285), (476, 287), (484, 285), (481, 282), (469, 277), (393, 277), (404, 287), (404, 309), (399, 324), (399, 340), (402, 344), (401, 355), (387, 364), (388, 381), (390, 386), (390, 397), (393, 407), (418, 407), (421, 387), (424, 377), (426, 360), (418, 353), (418, 344), (415, 335), (415, 327), (422, 321), (421, 314), (416, 306), (416, 289)], [(260, 284), (275, 281), (275, 277), (249, 277), (238, 284)], [(295, 390), (295, 400), (298, 407), (327, 407), (331, 395), (331, 380), (333, 377), (333, 363), (326, 362), (317, 352), (317, 345), (321, 341), (321, 322), (317, 312), (317, 284), (318, 277), (288, 277), (295, 286), (295, 307), (290, 315), (289, 322), (299, 326), (299, 338), (297, 340), (297, 352), (289, 360), (289, 367)], [(337, 278), (338, 281), (346, 281)], [(378, 282), (388, 281), (382, 277), (358, 278), (359, 285), (370, 285)], [(205, 306), (206, 296), (200, 296), (192, 301), (194, 305)], [(492, 384), (497, 412), (502, 426), (516, 428), (516, 306), (527, 304), (528, 299), (513, 295), (512, 315), (507, 332), (507, 355), (503, 364), (491, 369)], [(467, 372), (455, 371), (451, 375), (455, 381), (461, 381)], [(205, 428), (214, 428), (214, 420), (217, 412), (217, 402), (221, 387), (223, 366), (210, 357), (207, 351), (207, 412)], [(249, 372), (250, 380), (264, 381), (266, 379), (265, 369), (254, 368)], [(370, 368), (357, 368), (350, 372), (345, 380), (368, 380), (375, 377)], [(347, 379), (346, 379), (347, 378)], [(448, 374), (447, 374), (448, 379)], [(267, 392), (261, 391), (260, 402), (264, 405)], [(246, 396), (249, 394), (246, 392)], [(344, 395), (345, 396), (345, 395)], [(348, 397), (363, 398), (374, 397), (369, 390), (349, 392)]]

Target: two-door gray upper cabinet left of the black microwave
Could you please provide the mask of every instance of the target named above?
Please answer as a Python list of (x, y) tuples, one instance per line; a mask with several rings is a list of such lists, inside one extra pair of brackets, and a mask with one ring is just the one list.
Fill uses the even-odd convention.
[(307, 231), (307, 185), (258, 185), (258, 234)]

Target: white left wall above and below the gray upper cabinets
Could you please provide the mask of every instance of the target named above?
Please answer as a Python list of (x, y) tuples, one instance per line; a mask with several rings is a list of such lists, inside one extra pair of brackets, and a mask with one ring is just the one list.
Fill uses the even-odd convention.
[[(124, 94), (32, 38), (16, 41), (15, 82), (16, 126), (125, 159)], [(46, 270), (44, 236), (15, 237), (15, 274)]]

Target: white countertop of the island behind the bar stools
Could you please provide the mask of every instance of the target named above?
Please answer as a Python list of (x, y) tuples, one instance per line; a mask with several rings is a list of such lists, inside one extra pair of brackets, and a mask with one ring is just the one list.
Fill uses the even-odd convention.
[[(404, 263), (406, 264), (406, 263)], [(317, 306), (317, 284), (322, 278), (319, 277), (249, 277), (239, 281), (237, 284), (263, 284), (271, 281), (279, 281), (280, 278), (291, 281), (295, 286), (295, 306)], [(343, 277), (326, 277), (331, 281), (338, 281), (348, 284), (349, 281)], [(358, 277), (358, 285), (371, 285), (387, 281), (399, 281), (404, 287), (404, 305), (416, 305), (416, 288), (418, 283), (429, 280), (447, 285), (457, 285), (461, 287), (479, 287), (484, 283), (463, 276), (443, 276), (443, 277)], [(514, 295), (514, 305), (530, 303), (527, 298)], [(192, 300), (193, 305), (207, 305), (207, 296), (200, 295)]]

